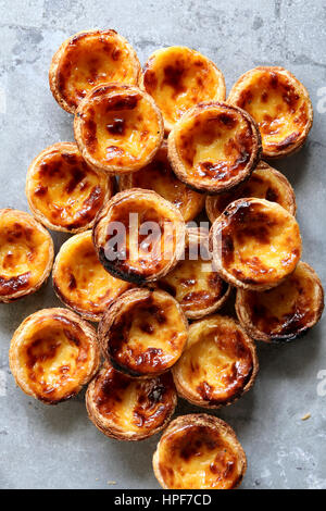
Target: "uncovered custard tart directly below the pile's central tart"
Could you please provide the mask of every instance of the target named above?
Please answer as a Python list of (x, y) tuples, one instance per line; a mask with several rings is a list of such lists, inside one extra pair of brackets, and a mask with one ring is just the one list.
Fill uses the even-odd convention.
[(167, 371), (180, 357), (188, 323), (179, 303), (167, 292), (130, 289), (103, 314), (99, 340), (114, 369), (135, 377)]

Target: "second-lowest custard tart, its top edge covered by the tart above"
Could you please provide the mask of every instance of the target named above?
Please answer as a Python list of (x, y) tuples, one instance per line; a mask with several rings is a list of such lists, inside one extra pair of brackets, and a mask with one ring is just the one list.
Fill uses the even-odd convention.
[(117, 440), (143, 440), (163, 429), (177, 402), (171, 373), (149, 379), (131, 378), (109, 362), (89, 384), (89, 419), (104, 435)]

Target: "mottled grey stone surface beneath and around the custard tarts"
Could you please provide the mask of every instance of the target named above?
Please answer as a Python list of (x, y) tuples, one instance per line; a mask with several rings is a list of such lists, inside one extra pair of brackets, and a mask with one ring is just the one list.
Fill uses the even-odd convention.
[[(67, 36), (115, 28), (142, 63), (162, 46), (192, 47), (222, 68), (228, 90), (244, 71), (279, 64), (303, 82), (315, 109), (304, 149), (275, 166), (297, 192), (303, 259), (325, 284), (325, 25), (323, 0), (0, 0), (1, 208), (28, 210), (29, 162), (50, 144), (73, 139), (72, 117), (48, 87), (51, 57)], [(64, 236), (54, 238), (58, 248)], [(108, 439), (88, 421), (84, 396), (51, 408), (15, 388), (10, 338), (27, 314), (53, 304), (49, 283), (33, 298), (0, 306), (0, 487), (108, 488), (113, 481), (115, 488), (156, 488), (158, 436), (139, 444)], [(254, 388), (217, 411), (248, 454), (242, 488), (326, 488), (326, 396), (317, 395), (317, 374), (326, 370), (323, 337), (325, 321), (287, 346), (260, 346)], [(190, 410), (185, 402), (178, 409)], [(311, 419), (302, 422), (306, 412)]]

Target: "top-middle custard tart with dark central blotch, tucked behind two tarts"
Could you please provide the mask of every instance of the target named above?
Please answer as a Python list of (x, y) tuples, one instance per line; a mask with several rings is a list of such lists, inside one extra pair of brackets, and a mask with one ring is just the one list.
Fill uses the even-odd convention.
[(223, 73), (206, 57), (183, 46), (154, 51), (140, 78), (142, 88), (160, 108), (165, 130), (202, 101), (224, 101)]

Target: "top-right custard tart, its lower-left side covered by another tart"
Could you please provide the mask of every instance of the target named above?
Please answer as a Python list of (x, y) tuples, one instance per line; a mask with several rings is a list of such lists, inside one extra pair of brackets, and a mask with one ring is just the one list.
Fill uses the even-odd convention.
[(284, 67), (248, 71), (234, 85), (227, 101), (247, 110), (255, 120), (266, 158), (286, 157), (300, 149), (312, 126), (308, 90)]

